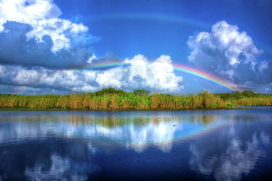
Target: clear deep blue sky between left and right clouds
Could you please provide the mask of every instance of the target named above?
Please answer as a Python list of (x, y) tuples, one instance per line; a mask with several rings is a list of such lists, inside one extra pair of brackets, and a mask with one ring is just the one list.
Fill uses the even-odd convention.
[(209, 32), (222, 20), (237, 24), (259, 48), (269, 47), (272, 41), (267, 36), (272, 29), (270, 1), (54, 2), (63, 12), (60, 18), (83, 22), (93, 35), (102, 38), (94, 45), (100, 56), (112, 51), (123, 59), (136, 53), (153, 59), (162, 53), (171, 54), (177, 61), (186, 59), (188, 37), (196, 31)]

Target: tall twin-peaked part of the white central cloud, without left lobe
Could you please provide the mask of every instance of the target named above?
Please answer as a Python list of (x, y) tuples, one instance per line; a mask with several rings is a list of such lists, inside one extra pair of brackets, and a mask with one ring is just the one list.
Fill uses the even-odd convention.
[(131, 60), (126, 59), (125, 62), (130, 63), (131, 66), (124, 73), (126, 81), (122, 88), (144, 87), (161, 92), (183, 90), (183, 85), (180, 84), (183, 78), (173, 73), (170, 56), (161, 55), (156, 61), (149, 63), (146, 57), (139, 54)]

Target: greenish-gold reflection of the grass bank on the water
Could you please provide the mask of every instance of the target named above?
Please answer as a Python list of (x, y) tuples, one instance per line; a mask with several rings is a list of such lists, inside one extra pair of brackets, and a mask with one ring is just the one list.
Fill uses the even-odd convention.
[(153, 125), (171, 122), (187, 122), (191, 124), (210, 125), (221, 116), (216, 115), (180, 115), (180, 116), (92, 116), (90, 115), (40, 115), (40, 116), (1, 116), (0, 121), (19, 121), (19, 122), (66, 122), (72, 125), (102, 125), (113, 128), (122, 125)]

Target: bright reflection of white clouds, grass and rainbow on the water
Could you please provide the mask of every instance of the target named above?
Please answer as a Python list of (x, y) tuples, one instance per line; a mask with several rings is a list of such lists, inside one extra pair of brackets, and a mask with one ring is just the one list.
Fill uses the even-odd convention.
[(149, 144), (167, 152), (175, 138), (185, 138), (226, 123), (218, 115), (101, 117), (88, 114), (3, 116), (2, 120), (5, 120), (6, 128), (0, 131), (0, 144), (21, 144), (55, 137), (83, 138), (102, 143), (117, 142), (138, 152), (144, 151)]

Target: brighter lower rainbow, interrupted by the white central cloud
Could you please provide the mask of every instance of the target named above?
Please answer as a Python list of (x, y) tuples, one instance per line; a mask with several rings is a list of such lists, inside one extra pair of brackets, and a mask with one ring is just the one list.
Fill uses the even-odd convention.
[[(116, 66), (129, 66), (130, 63), (127, 62), (123, 62), (123, 61), (115, 61), (115, 62), (109, 62), (109, 63), (100, 63), (100, 64), (95, 64), (95, 65), (86, 65), (84, 67), (80, 67), (80, 68), (74, 68), (74, 69), (69, 69), (66, 71), (81, 71), (81, 70), (90, 70), (90, 69), (99, 69), (99, 68), (112, 68), (112, 67), (116, 67)], [(177, 64), (177, 63), (172, 63), (174, 70), (176, 71), (181, 71), (181, 72), (185, 72), (187, 74), (190, 75), (194, 75), (200, 78), (203, 78), (205, 80), (211, 81), (215, 84), (218, 84), (222, 87), (227, 88), (228, 90), (241, 90), (239, 87), (237, 87), (236, 85), (233, 85), (231, 83), (228, 83), (220, 78), (215, 77), (214, 75), (208, 74), (207, 72), (201, 71), (199, 69), (196, 68), (192, 68), (192, 67), (188, 67), (186, 65), (182, 65), (182, 64)], [(26, 92), (28, 92), (29, 90), (38, 87), (42, 84), (45, 84), (46, 82), (59, 77), (59, 76), (63, 76), (66, 75), (66, 71), (63, 71), (62, 73), (55, 73), (52, 76), (44, 79), (43, 81), (37, 82), (35, 84), (31, 84), (29, 85), (27, 88), (25, 88), (24, 90), (18, 92), (17, 94), (22, 95)]]

